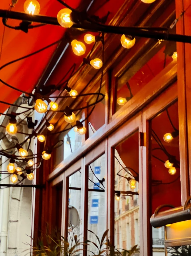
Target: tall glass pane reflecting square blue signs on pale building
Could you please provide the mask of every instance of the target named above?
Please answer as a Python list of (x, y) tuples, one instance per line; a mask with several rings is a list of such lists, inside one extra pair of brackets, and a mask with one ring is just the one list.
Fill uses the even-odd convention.
[[(101, 240), (105, 225), (105, 154), (89, 165), (88, 181), (88, 230), (94, 232)], [(88, 232), (88, 240), (98, 244), (96, 236)], [(97, 248), (90, 244), (88, 250), (97, 254)], [(91, 255), (91, 253), (90, 253)]]

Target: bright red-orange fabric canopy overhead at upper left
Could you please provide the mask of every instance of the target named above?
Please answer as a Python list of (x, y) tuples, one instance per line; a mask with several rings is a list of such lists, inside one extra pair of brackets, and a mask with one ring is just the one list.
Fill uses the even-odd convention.
[[(66, 2), (68, 2), (73, 8), (78, 7), (80, 4), (80, 0), (66, 0)], [(11, 0), (1, 0), (0, 9), (9, 9), (9, 3), (11, 3)], [(41, 15), (57, 17), (58, 11), (64, 8), (63, 5), (56, 0), (39, 0), (39, 3), (41, 5)], [(23, 12), (23, 4), (24, 0), (19, 0), (15, 8), (12, 8), (12, 10)], [(19, 23), (20, 21), (18, 20), (8, 20), (8, 24), (12, 26), (18, 26)], [(0, 44), (3, 39), (3, 31), (4, 25), (0, 23)], [(57, 41), (63, 36), (65, 31), (66, 29), (63, 27), (46, 25), (30, 29), (26, 34), (22, 31), (6, 27), (4, 31), (0, 66)], [(0, 71), (0, 78), (16, 88), (25, 91), (32, 91), (50, 61), (56, 47), (57, 45), (54, 45), (43, 52), (9, 65)], [(0, 83), (0, 89), (0, 100), (8, 103), (16, 101), (21, 94), (2, 83)], [(0, 107), (0, 112), (4, 112), (8, 106), (1, 104)]]

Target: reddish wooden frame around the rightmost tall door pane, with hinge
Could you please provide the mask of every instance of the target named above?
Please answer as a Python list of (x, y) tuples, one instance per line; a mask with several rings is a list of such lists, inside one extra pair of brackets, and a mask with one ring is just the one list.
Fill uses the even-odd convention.
[[(175, 102), (178, 98), (177, 91), (177, 82), (173, 83), (170, 87), (168, 87), (162, 94), (160, 94), (157, 98), (155, 98), (147, 107), (145, 107), (142, 111), (142, 129), (144, 134), (144, 144), (142, 147), (142, 186), (143, 186), (143, 255), (151, 256), (152, 255), (152, 230), (150, 225), (150, 165), (149, 165), (149, 156), (150, 156), (150, 143), (149, 138), (151, 136), (151, 131), (149, 127), (150, 120), (157, 116), (163, 109), (170, 106), (173, 102)], [(179, 113), (180, 115), (180, 113)], [(180, 118), (179, 118), (180, 123)], [(179, 144), (181, 141), (179, 142)], [(181, 179), (184, 177), (184, 170), (181, 168), (181, 162), (184, 159), (181, 155), (181, 147), (180, 147), (180, 173)], [(185, 180), (184, 180), (185, 182)], [(186, 193), (188, 188), (188, 182), (184, 184), (181, 183), (181, 196)], [(184, 199), (182, 197), (182, 203), (184, 203)]]

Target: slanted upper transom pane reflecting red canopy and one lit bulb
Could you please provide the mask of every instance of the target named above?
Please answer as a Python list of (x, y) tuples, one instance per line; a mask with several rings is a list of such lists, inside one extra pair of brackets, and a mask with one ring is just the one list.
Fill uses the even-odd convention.
[[(164, 52), (167, 51), (166, 49), (168, 50), (168, 54), (173, 54), (173, 52), (176, 51), (175, 43), (170, 45), (170, 48), (169, 42), (163, 42), (161, 44), (157, 44), (157, 46), (155, 45), (117, 79), (115, 111), (118, 111), (122, 105), (124, 105), (135, 94), (137, 94), (138, 91), (147, 85), (148, 82), (157, 76), (157, 74), (159, 74), (166, 65), (173, 61), (174, 55), (173, 58), (169, 55), (165, 57)], [(177, 58), (174, 58), (174, 61), (177, 61)]]

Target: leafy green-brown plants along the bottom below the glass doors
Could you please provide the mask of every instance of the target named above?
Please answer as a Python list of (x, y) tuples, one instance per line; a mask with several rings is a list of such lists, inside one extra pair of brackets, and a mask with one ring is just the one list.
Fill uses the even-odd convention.
[[(31, 246), (32, 254), (35, 256), (76, 256), (82, 254), (83, 250), (87, 250), (94, 256), (131, 256), (137, 248), (137, 245), (135, 245), (130, 251), (124, 249), (118, 250), (107, 239), (108, 230), (103, 233), (101, 241), (94, 232), (91, 230), (89, 232), (96, 236), (98, 243), (90, 240), (82, 242), (73, 231), (69, 232), (69, 241), (63, 236), (60, 236), (58, 232), (54, 235), (48, 235), (46, 233), (38, 239), (37, 244)], [(92, 243), (97, 248), (97, 254), (88, 250), (89, 243)]]

